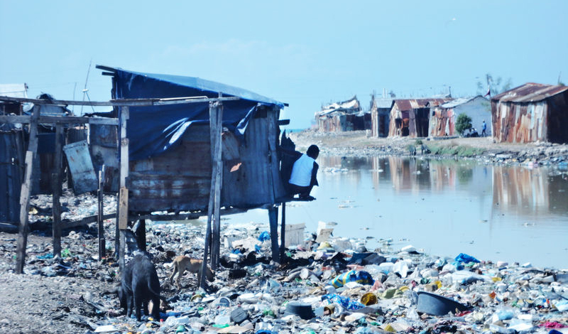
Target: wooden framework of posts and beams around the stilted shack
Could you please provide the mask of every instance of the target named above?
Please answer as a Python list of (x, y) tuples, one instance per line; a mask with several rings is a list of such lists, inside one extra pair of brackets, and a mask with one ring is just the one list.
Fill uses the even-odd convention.
[[(0, 115), (0, 123), (20, 123), (29, 124), (30, 126), (30, 140), (28, 144), (28, 149), (26, 151), (26, 173), (24, 181), (21, 185), (21, 211), (20, 211), (20, 225), (18, 230), (18, 244), (17, 244), (17, 254), (16, 254), (16, 273), (21, 274), (23, 272), (23, 266), (26, 259), (26, 244), (28, 237), (28, 208), (29, 208), (29, 197), (31, 190), (31, 180), (32, 180), (32, 163), (33, 156), (37, 152), (37, 127), (38, 124), (54, 124), (56, 128), (56, 165), (57, 168), (52, 176), (53, 185), (53, 252), (54, 256), (59, 255), (61, 252), (60, 242), (61, 242), (61, 230), (64, 228), (75, 227), (79, 225), (84, 225), (88, 222), (97, 222), (99, 226), (99, 259), (104, 257), (104, 232), (102, 227), (102, 222), (104, 219), (111, 217), (116, 217), (116, 234), (115, 243), (116, 249), (119, 254), (119, 263), (121, 268), (124, 267), (124, 256), (125, 256), (125, 244), (126, 244), (126, 229), (129, 227), (129, 222), (133, 220), (138, 220), (138, 229), (141, 231), (137, 235), (139, 239), (143, 239), (139, 244), (145, 245), (146, 240), (146, 230), (145, 230), (145, 220), (152, 218), (153, 220), (178, 220), (178, 219), (190, 219), (197, 218), (203, 215), (204, 212), (190, 212), (190, 213), (177, 213), (175, 215), (136, 215), (129, 216), (129, 190), (128, 176), (129, 176), (129, 139), (126, 133), (126, 122), (129, 119), (129, 107), (143, 107), (143, 106), (155, 106), (161, 104), (185, 104), (185, 103), (208, 103), (209, 104), (209, 131), (211, 139), (211, 156), (212, 156), (212, 178), (211, 178), (211, 188), (209, 193), (209, 205), (207, 208), (207, 230), (204, 245), (204, 262), (203, 266), (207, 265), (207, 258), (211, 254), (211, 264), (212, 268), (217, 268), (219, 264), (219, 248), (220, 248), (220, 215), (222, 214), (233, 214), (239, 212), (245, 212), (251, 208), (238, 209), (238, 208), (225, 208), (221, 209), (221, 188), (222, 188), (222, 114), (223, 114), (223, 104), (224, 101), (231, 101), (239, 99), (239, 97), (222, 97), (219, 94), (217, 98), (209, 97), (179, 97), (173, 99), (114, 99), (109, 102), (84, 102), (84, 101), (68, 101), (68, 100), (45, 100), (45, 99), (27, 99), (27, 98), (15, 98), (15, 97), (0, 97), (0, 101), (4, 102), (31, 102), (35, 104), (33, 108), (33, 113), (31, 116), (15, 116), (15, 115)], [(41, 116), (40, 108), (44, 104), (55, 104), (55, 105), (89, 105), (89, 106), (111, 106), (119, 107), (121, 109), (121, 118), (95, 118), (95, 117), (50, 117)], [(273, 119), (273, 122), (268, 123), (268, 136), (269, 138), (278, 139), (277, 126), (279, 122), (277, 119)], [(120, 187), (119, 194), (117, 196), (117, 206), (116, 206), (116, 216), (115, 215), (103, 215), (102, 210), (102, 180), (104, 176), (99, 174), (99, 208), (98, 215), (93, 217), (87, 217), (78, 222), (70, 222), (65, 225), (62, 224), (60, 220), (60, 194), (62, 187), (62, 177), (60, 174), (61, 161), (62, 161), (62, 144), (60, 143), (60, 134), (62, 132), (63, 124), (103, 124), (103, 125), (114, 125), (119, 126), (119, 166), (120, 166)], [(118, 143), (117, 143), (118, 144)], [(276, 141), (270, 141), (269, 151), (271, 156), (277, 156), (276, 153)], [(278, 171), (278, 160), (272, 159), (271, 165), (277, 169), (273, 171)], [(275, 172), (274, 172), (275, 173)], [(273, 174), (271, 180), (275, 180), (279, 175)], [(268, 216), (270, 222), (271, 230), (271, 249), (272, 255), (275, 262), (280, 262), (280, 257), (284, 254), (284, 239), (285, 239), (285, 201), (291, 200), (290, 198), (275, 198), (273, 196), (272, 205), (261, 205), (257, 208), (268, 209)], [(278, 246), (278, 203), (282, 204), (282, 220), (281, 220), (281, 232), (280, 232), (280, 247)], [(203, 270), (202, 273), (205, 271)], [(204, 286), (204, 279), (200, 278), (200, 284)]]

